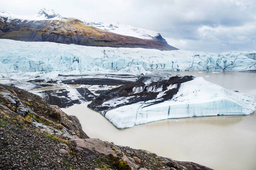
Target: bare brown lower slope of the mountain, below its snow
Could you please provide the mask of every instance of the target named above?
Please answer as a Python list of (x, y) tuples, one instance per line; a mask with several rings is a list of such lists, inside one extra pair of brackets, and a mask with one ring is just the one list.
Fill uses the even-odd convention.
[(0, 39), (19, 41), (49, 41), (87, 46), (110, 46), (175, 50), (177, 48), (158, 40), (143, 40), (118, 35), (84, 24), (78, 19), (20, 20), (0, 18)]

